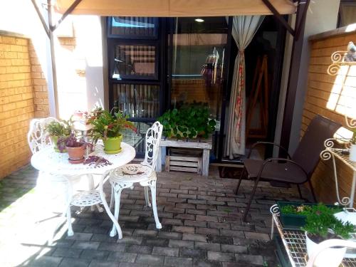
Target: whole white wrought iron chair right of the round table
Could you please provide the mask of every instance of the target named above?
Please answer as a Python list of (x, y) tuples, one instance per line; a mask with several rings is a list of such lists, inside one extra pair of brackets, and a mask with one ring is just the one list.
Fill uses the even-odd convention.
[[(162, 137), (163, 126), (159, 122), (155, 122), (146, 132), (146, 152), (145, 159), (140, 164), (125, 164), (117, 169), (112, 169), (109, 174), (109, 181), (112, 187), (115, 201), (115, 221), (119, 218), (120, 195), (122, 189), (132, 188), (135, 183), (140, 183), (145, 189), (146, 205), (151, 206), (148, 195), (148, 187), (152, 194), (152, 208), (155, 216), (156, 228), (161, 229), (162, 225), (159, 222), (156, 204), (156, 161), (158, 157), (159, 142)], [(112, 226), (110, 236), (116, 234), (115, 225)], [(120, 230), (119, 230), (120, 231)], [(119, 233), (120, 235), (120, 233)]]

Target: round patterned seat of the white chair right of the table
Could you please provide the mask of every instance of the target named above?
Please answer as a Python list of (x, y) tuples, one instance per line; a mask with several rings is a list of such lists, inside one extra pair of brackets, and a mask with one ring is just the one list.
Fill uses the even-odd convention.
[(110, 180), (115, 182), (142, 182), (152, 174), (152, 169), (142, 164), (125, 164), (110, 172)]

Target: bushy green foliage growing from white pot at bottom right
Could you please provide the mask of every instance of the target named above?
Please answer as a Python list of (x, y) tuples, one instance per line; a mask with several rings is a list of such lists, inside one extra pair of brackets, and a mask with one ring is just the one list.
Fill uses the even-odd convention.
[(354, 231), (355, 226), (349, 222), (342, 224), (342, 221), (335, 218), (334, 213), (333, 209), (323, 204), (313, 206), (312, 211), (307, 214), (306, 224), (302, 230), (326, 239), (330, 229), (335, 236), (342, 239), (350, 238), (350, 233)]

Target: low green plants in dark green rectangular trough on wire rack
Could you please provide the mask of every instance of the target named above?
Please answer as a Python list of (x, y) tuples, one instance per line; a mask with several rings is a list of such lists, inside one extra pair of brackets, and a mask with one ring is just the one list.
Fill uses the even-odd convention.
[[(305, 219), (308, 213), (313, 212), (315, 203), (303, 203), (292, 201), (278, 201), (278, 208), (280, 211), (279, 218), (284, 229), (300, 229), (305, 226)], [(335, 205), (326, 205), (333, 214), (342, 211), (342, 209)]]

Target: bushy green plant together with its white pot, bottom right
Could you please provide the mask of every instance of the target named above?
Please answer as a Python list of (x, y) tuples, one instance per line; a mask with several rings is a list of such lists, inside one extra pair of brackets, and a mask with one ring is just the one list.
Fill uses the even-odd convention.
[[(349, 239), (350, 233), (354, 231), (354, 226), (350, 222), (337, 219), (333, 211), (323, 204), (318, 204), (313, 208), (313, 212), (308, 212), (306, 224), (302, 229), (305, 231), (306, 246), (310, 257), (317, 245), (328, 239)], [(345, 247), (327, 248), (322, 251), (315, 260), (318, 267), (337, 267), (346, 253)]]

